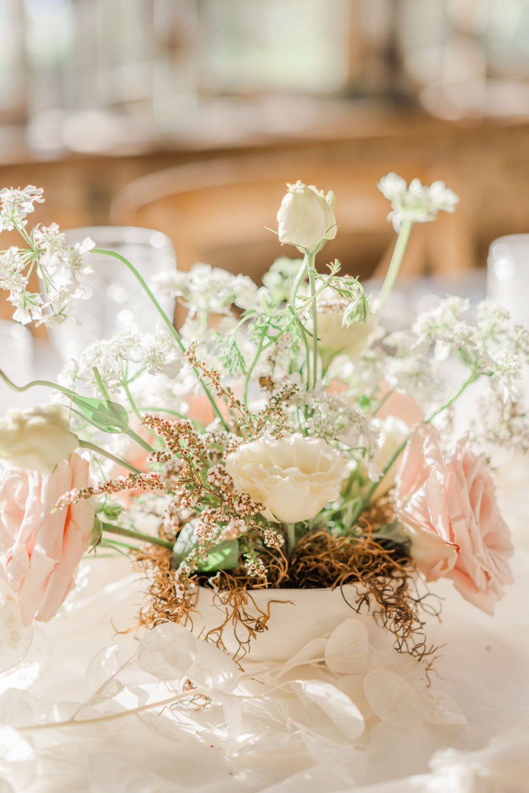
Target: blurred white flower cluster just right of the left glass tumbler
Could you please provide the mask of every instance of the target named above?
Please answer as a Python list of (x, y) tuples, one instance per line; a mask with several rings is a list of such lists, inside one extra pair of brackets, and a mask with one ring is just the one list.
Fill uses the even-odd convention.
[(170, 270), (153, 279), (161, 293), (179, 297), (191, 316), (203, 312), (225, 314), (231, 305), (254, 308), (259, 289), (246, 275), (197, 263), (188, 272)]

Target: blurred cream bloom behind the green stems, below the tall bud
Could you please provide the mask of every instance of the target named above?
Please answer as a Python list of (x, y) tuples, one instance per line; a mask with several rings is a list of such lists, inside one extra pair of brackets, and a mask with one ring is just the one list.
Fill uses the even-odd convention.
[(345, 328), (342, 324), (342, 311), (318, 311), (318, 339), (320, 354), (324, 364), (333, 355), (341, 353), (351, 358), (358, 358), (364, 350), (371, 346), (378, 330), (378, 314), (366, 316), (365, 322), (355, 322)]

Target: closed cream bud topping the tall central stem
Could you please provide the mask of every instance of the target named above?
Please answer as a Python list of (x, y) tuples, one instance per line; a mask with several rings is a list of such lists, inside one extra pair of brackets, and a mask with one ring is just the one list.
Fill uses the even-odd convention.
[(279, 242), (289, 243), (305, 251), (315, 250), (324, 239), (336, 236), (336, 219), (332, 211), (333, 194), (303, 182), (287, 185), (278, 212)]

